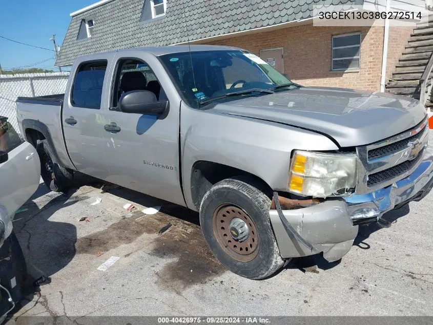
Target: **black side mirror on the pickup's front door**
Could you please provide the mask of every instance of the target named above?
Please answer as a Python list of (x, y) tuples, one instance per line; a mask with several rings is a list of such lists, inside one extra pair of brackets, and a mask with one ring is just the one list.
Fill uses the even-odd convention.
[(122, 94), (118, 106), (119, 110), (124, 113), (160, 115), (169, 109), (169, 102), (158, 102), (151, 91), (134, 90)]

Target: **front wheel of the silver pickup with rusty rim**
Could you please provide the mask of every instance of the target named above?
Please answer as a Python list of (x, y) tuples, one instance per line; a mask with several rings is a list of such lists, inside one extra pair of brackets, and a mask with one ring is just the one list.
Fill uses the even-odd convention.
[[(259, 280), (277, 272), (283, 266), (284, 260), (278, 250), (269, 217), (271, 199), (259, 190), (260, 186), (253, 184), (246, 179), (230, 178), (212, 186), (201, 201), (200, 224), (204, 240), (208, 243), (215, 257), (227, 269), (242, 277)], [(240, 208), (253, 221), (253, 225), (257, 230), (258, 246), (255, 248), (254, 253), (250, 254), (252, 260), (244, 261), (244, 257), (234, 254), (229, 246), (225, 245), (224, 247), (224, 244), (221, 243), (222, 237), (218, 233), (218, 225), (220, 225), (219, 221), (223, 221), (216, 217), (216, 213), (221, 209), (226, 209), (225, 206), (235, 206), (235, 209), (236, 207)], [(239, 210), (237, 213), (239, 213)], [(225, 218), (225, 215), (223, 216)], [(238, 217), (237, 214), (235, 216)], [(233, 216), (228, 217), (233, 220)], [(218, 222), (215, 223), (215, 220)], [(230, 222), (230, 220), (228, 221)], [(239, 248), (237, 249), (239, 250)], [(258, 252), (256, 252), (257, 250)]]

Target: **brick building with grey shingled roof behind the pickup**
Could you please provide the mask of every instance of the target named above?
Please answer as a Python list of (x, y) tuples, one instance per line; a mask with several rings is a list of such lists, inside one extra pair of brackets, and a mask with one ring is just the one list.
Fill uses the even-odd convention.
[(316, 4), (367, 10), (372, 2), (377, 1), (102, 0), (71, 13), (56, 65), (71, 65), (78, 55), (112, 49), (187, 42), (229, 45), (261, 56), (302, 85), (380, 91), (395, 72), (415, 25), (389, 27), (387, 43), (385, 27), (379, 23), (313, 26)]

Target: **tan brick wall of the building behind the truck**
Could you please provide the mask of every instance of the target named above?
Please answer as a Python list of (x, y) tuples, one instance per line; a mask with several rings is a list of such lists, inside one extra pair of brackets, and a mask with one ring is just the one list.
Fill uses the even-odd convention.
[[(400, 28), (398, 28), (400, 29)], [(332, 36), (361, 32), (361, 60), (357, 72), (331, 70)], [(407, 43), (407, 32), (397, 37), (393, 30), (389, 69), (394, 71), (399, 55)], [(383, 26), (373, 27), (316, 27), (302, 25), (231, 37), (206, 44), (236, 46), (259, 55), (261, 49), (284, 48), (284, 72), (291, 80), (305, 86), (344, 87), (380, 91), (383, 53)], [(400, 52), (399, 55), (397, 53)], [(391, 72), (392, 72), (391, 71)], [(390, 73), (391, 73), (390, 72)]]

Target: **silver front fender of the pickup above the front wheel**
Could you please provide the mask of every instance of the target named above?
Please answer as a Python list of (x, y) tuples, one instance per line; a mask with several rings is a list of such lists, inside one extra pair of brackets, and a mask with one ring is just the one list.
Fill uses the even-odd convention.
[(253, 174), (273, 190), (287, 191), (294, 149), (336, 150), (331, 140), (313, 131), (280, 123), (232, 116), (183, 106), (181, 112), (182, 180), (185, 201), (195, 209), (191, 173), (197, 161), (231, 166)]

